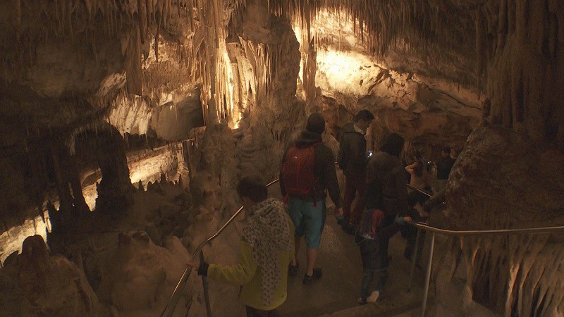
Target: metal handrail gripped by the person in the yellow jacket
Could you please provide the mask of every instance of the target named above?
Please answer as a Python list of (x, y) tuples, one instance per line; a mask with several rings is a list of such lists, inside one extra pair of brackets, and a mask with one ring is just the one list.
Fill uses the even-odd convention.
[[(266, 185), (266, 187), (270, 187), (271, 185), (278, 182), (278, 180), (280, 180), (280, 179), (276, 178), (276, 180), (269, 182)], [(217, 232), (214, 233), (214, 235), (208, 237), (206, 240), (204, 240), (202, 243), (200, 243), (200, 245), (198, 245), (198, 247), (196, 248), (194, 253), (192, 253), (192, 257), (190, 258), (190, 260), (196, 259), (196, 256), (198, 254), (200, 254), (200, 261), (203, 261), (204, 260), (204, 254), (202, 253), (202, 249), (206, 246), (206, 244), (209, 244), (216, 237), (218, 237), (221, 234), (221, 232), (223, 232), (223, 230), (225, 230), (227, 228), (227, 226), (230, 225), (233, 222), (233, 220), (239, 215), (239, 213), (241, 213), (241, 211), (243, 211), (243, 206), (240, 206), (238, 211), (233, 213), (233, 216), (231, 216), (231, 218), (229, 218), (226, 221), (226, 223), (224, 223), (221, 226), (221, 228), (219, 228), (219, 230), (217, 230)], [(161, 316), (163, 316), (163, 317), (172, 316), (174, 309), (176, 309), (176, 304), (178, 304), (178, 299), (180, 299), (180, 290), (182, 290), (185, 287), (186, 282), (188, 281), (188, 278), (190, 278), (190, 273), (192, 273), (192, 267), (188, 266), (184, 270), (184, 273), (180, 277), (180, 280), (178, 280), (178, 283), (176, 284), (176, 287), (174, 288), (174, 292), (171, 295), (171, 300), (166, 305), (166, 307), (165, 307), (163, 313), (161, 314)], [(207, 294), (207, 280), (205, 278), (202, 278), (202, 280), (203, 280), (202, 282), (204, 283), (204, 297), (206, 299), (206, 311), (207, 311), (207, 315), (211, 316), (211, 311), (210, 311), (210, 308), (209, 308), (209, 294)]]

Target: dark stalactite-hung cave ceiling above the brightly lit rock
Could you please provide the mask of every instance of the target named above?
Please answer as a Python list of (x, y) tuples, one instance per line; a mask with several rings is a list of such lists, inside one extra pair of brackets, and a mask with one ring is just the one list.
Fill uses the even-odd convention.
[[(226, 28), (231, 12), (252, 1), (210, 1), (221, 8), (205, 2), (4, 1), (0, 115), (36, 129), (75, 128), (106, 115), (118, 94), (154, 106), (163, 93), (195, 92), (209, 57), (202, 14), (216, 10), (210, 20)], [(309, 23), (321, 8), (342, 11), (357, 21), (367, 51), (391, 67), (472, 85), (472, 3), (377, 1), (365, 8), (364, 1), (269, 1), (269, 7)]]

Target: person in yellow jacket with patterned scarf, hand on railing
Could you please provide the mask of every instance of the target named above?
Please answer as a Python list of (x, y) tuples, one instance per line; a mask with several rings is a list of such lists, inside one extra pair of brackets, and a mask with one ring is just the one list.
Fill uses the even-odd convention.
[(198, 275), (240, 285), (247, 316), (281, 316), (276, 308), (286, 301), (288, 264), (294, 254), (293, 223), (282, 201), (267, 199), (266, 182), (258, 175), (240, 180), (237, 193), (245, 207), (239, 263), (221, 266), (192, 261)]

